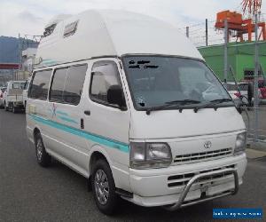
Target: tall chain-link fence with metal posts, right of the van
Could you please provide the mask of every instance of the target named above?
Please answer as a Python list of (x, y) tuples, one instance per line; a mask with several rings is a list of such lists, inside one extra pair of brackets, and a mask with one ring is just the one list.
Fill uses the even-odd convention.
[[(266, 15), (261, 14), (261, 18), (263, 16)], [(257, 16), (255, 21), (258, 21)], [(227, 21), (224, 25), (227, 27)], [(207, 65), (226, 85), (235, 80), (253, 84), (252, 107), (247, 107), (242, 116), (248, 141), (262, 142), (266, 147), (266, 41), (259, 41), (261, 29), (255, 26), (254, 42), (241, 43), (237, 42), (236, 33), (228, 28), (215, 30), (215, 20), (205, 20), (180, 28), (180, 31), (198, 47)]]

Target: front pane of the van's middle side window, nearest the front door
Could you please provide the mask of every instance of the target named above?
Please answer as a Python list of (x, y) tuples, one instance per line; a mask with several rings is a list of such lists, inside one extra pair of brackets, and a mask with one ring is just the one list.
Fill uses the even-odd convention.
[(69, 67), (66, 76), (63, 100), (65, 103), (78, 105), (82, 96), (82, 88), (87, 65)]

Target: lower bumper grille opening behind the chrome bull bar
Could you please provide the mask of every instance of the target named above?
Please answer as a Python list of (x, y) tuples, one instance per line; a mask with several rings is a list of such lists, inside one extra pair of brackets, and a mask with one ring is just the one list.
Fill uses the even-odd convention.
[[(201, 171), (196, 171), (196, 172), (191, 172), (191, 173), (185, 173), (185, 174), (178, 174), (174, 176), (168, 177), (168, 187), (176, 187), (176, 186), (186, 186), (187, 183), (191, 178), (193, 178), (196, 175), (199, 175), (200, 173), (206, 173), (206, 172), (211, 172), (215, 170), (223, 170), (227, 168), (235, 168), (235, 165), (229, 165), (221, 168), (215, 168), (211, 170), (201, 170)], [(221, 178), (226, 178), (229, 176), (233, 176), (231, 172), (223, 172), (221, 174), (215, 175), (215, 176), (207, 176), (205, 178), (200, 178), (198, 179), (194, 185), (199, 185), (202, 183), (207, 183), (211, 182), (213, 183), (215, 180), (221, 179)]]

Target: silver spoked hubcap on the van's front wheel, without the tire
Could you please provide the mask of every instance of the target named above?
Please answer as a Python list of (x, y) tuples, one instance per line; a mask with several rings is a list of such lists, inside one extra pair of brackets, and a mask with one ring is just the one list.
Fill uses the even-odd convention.
[(104, 170), (97, 170), (94, 178), (94, 186), (98, 202), (105, 205), (109, 197), (109, 184)]

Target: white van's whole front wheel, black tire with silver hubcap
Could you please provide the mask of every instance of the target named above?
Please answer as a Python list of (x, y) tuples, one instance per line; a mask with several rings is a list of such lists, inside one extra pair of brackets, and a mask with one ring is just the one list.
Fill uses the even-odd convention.
[(115, 194), (112, 171), (104, 159), (99, 159), (93, 166), (91, 186), (98, 210), (106, 215), (113, 215), (118, 203), (118, 195)]

